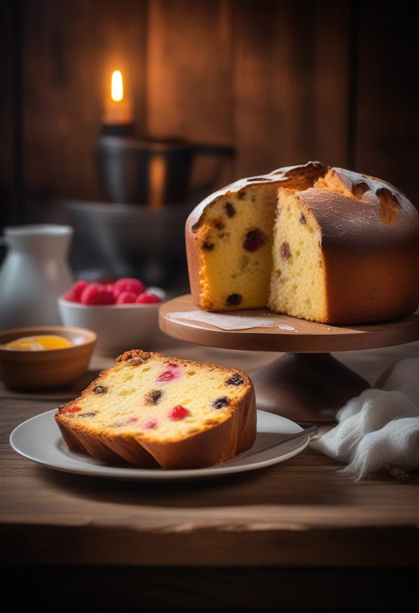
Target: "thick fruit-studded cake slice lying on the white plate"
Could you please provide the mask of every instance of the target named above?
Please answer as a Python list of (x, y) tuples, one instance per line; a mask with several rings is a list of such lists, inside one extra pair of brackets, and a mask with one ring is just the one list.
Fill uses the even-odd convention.
[(240, 370), (125, 352), (55, 416), (72, 451), (140, 468), (203, 468), (250, 449), (254, 387)]

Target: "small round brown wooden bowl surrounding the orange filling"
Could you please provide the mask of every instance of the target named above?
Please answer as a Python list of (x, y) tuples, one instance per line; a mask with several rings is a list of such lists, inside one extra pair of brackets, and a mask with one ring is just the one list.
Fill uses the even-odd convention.
[[(4, 349), (17, 338), (56, 334), (67, 338), (71, 347), (25, 351)], [(84, 328), (36, 326), (0, 332), (0, 379), (16, 390), (50, 389), (74, 383), (88, 369), (97, 335)]]

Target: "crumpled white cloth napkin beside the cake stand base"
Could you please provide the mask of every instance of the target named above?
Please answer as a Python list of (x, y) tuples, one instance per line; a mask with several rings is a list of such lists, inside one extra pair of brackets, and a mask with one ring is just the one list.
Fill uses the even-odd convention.
[[(419, 357), (400, 360), (338, 411), (311, 447), (344, 462), (356, 480), (391, 465), (419, 468)], [(378, 389), (381, 388), (381, 389)]]

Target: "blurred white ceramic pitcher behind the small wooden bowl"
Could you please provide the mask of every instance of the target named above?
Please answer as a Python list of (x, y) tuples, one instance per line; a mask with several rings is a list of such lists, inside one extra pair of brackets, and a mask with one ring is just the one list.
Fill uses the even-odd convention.
[(0, 330), (61, 324), (57, 298), (74, 283), (67, 263), (72, 235), (72, 227), (53, 224), (4, 229)]

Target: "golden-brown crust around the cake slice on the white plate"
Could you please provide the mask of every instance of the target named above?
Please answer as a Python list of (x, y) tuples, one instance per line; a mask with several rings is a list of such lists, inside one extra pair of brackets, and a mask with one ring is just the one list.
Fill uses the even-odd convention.
[[(201, 432), (183, 438), (160, 441), (153, 433), (148, 436), (137, 434), (115, 435), (112, 431), (97, 430), (89, 424), (75, 424), (70, 409), (83, 402), (87, 405), (96, 386), (108, 381), (112, 373), (124, 368), (135, 368), (149, 359), (173, 360), (178, 364), (194, 368), (212, 368), (224, 375), (238, 373), (243, 378), (243, 398), (232, 405), (227, 415), (214, 415), (211, 423), (206, 422)], [(94, 396), (94, 394), (93, 394)], [(140, 468), (203, 468), (227, 459), (232, 459), (254, 444), (256, 436), (256, 405), (254, 388), (249, 377), (240, 370), (217, 365), (168, 358), (162, 354), (151, 354), (140, 349), (125, 352), (116, 359), (115, 366), (102, 371), (81, 394), (67, 405), (62, 405), (55, 415), (67, 446), (73, 451), (86, 451), (102, 462), (126, 461)]]

